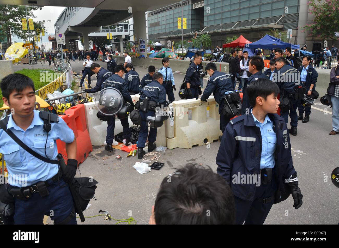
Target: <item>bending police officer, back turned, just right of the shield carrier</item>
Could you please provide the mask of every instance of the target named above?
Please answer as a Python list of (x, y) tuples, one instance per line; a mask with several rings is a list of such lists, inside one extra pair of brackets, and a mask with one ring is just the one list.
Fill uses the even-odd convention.
[[(162, 86), (163, 78), (162, 74), (157, 72), (153, 75), (153, 82), (147, 84), (141, 90), (140, 101), (143, 101), (145, 98), (148, 99), (148, 102), (156, 102), (159, 106), (166, 105), (166, 90)], [(148, 125), (146, 118), (148, 116), (154, 116), (154, 110), (147, 110), (147, 112), (140, 111), (141, 116), (141, 129), (139, 133), (138, 139), (138, 159), (142, 159), (145, 155), (145, 151), (143, 148), (145, 147), (146, 140), (148, 140), (148, 148), (147, 151), (151, 152), (155, 149), (156, 144), (154, 143), (157, 139), (157, 128), (150, 128), (148, 135)], [(147, 139), (148, 137), (148, 139)]]

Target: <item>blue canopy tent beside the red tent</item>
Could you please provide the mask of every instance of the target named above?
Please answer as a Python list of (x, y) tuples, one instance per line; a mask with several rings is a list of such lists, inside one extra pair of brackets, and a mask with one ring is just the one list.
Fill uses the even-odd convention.
[(275, 38), (271, 35), (265, 35), (260, 40), (257, 40), (253, 43), (246, 44), (245, 48), (262, 48), (262, 49), (275, 49), (275, 48), (281, 48), (285, 49), (286, 47), (291, 47), (292, 49), (299, 49), (300, 45), (293, 45), (287, 42), (283, 42), (278, 38)]

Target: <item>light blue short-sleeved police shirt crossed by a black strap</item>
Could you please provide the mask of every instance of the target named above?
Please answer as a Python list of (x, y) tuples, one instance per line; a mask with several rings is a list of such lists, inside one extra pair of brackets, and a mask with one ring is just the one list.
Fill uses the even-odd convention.
[[(41, 156), (45, 156), (45, 143), (47, 133), (43, 131), (43, 120), (39, 117), (39, 112), (34, 110), (34, 118), (31, 125), (24, 131), (18, 127), (12, 114), (9, 115), (7, 129), (11, 130), (23, 143)], [(58, 123), (51, 123), (52, 129), (48, 132), (46, 154), (49, 159), (55, 160), (58, 154), (56, 140), (60, 139), (65, 143), (74, 141), (74, 132), (67, 126), (62, 118)], [(51, 179), (59, 171), (58, 165), (49, 164), (37, 159), (21, 146), (19, 146), (7, 133), (0, 129), (0, 153), (3, 154), (6, 161), (8, 174), (13, 176), (12, 186), (26, 187), (39, 181)], [(66, 154), (64, 154), (66, 155)], [(18, 177), (23, 175), (27, 179), (25, 182), (18, 181)]]

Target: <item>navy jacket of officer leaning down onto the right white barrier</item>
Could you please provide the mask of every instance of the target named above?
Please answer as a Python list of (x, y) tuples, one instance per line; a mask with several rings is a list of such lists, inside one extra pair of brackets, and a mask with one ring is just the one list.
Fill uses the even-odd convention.
[(207, 86), (201, 96), (201, 100), (207, 100), (208, 97), (210, 97), (213, 93), (215, 101), (220, 104), (225, 92), (233, 90), (231, 75), (222, 73), (220, 71), (215, 71), (210, 77), (210, 80), (207, 82)]

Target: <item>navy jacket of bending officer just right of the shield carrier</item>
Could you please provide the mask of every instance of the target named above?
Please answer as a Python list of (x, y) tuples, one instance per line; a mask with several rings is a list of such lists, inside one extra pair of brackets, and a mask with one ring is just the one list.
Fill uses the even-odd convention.
[(158, 81), (154, 80), (141, 90), (140, 99), (144, 99), (146, 97), (151, 101), (157, 102), (158, 105), (165, 104), (166, 89)]

